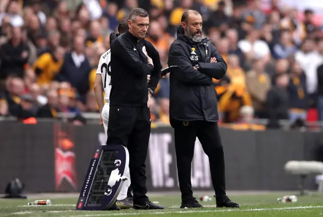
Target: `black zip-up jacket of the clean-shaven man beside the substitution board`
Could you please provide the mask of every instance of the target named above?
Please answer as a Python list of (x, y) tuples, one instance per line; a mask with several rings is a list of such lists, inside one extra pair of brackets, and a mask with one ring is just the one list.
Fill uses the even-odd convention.
[[(147, 64), (145, 52), (153, 65)], [(138, 40), (129, 31), (117, 37), (111, 45), (110, 105), (146, 105), (148, 88), (156, 89), (160, 70), (158, 51), (150, 42)], [(150, 75), (148, 84), (147, 75)]]

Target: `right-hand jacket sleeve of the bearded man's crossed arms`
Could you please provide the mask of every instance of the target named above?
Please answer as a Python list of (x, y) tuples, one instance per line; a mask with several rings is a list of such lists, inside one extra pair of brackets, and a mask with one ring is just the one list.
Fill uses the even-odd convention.
[(226, 61), (219, 54), (217, 48), (214, 47), (213, 44), (211, 44), (211, 57), (216, 57), (217, 62), (213, 62), (213, 63), (199, 62), (198, 63), (200, 65), (199, 70), (201, 71), (201, 73), (219, 80), (226, 74), (228, 66)]

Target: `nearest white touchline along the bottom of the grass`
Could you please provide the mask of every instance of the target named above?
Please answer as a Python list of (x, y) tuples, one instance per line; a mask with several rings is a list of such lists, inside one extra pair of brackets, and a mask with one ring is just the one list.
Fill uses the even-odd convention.
[(170, 213), (202, 213), (202, 212), (228, 212), (228, 211), (266, 211), (266, 210), (291, 210), (291, 209), (309, 209), (309, 208), (323, 208), (323, 206), (291, 206), (291, 207), (281, 207), (281, 208), (255, 208), (255, 209), (220, 209), (220, 210), (183, 210), (183, 211), (156, 211), (156, 212), (120, 212), (120, 213), (104, 213), (104, 214), (80, 214), (80, 215), (61, 215), (63, 216), (78, 216), (78, 217), (95, 217), (95, 216), (116, 216), (116, 215), (149, 215), (149, 214), (170, 214)]

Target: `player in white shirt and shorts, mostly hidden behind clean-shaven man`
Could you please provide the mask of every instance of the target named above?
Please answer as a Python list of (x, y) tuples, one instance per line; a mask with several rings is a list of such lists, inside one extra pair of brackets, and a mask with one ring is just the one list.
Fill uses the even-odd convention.
[[(122, 20), (118, 26), (118, 31), (120, 34), (128, 31), (128, 21)], [(110, 44), (114, 39), (117, 38), (119, 34), (112, 33), (110, 35)], [(94, 93), (95, 99), (99, 106), (100, 110), (100, 124), (104, 127), (105, 135), (107, 134), (107, 125), (109, 122), (109, 109), (110, 109), (110, 91), (111, 91), (111, 76), (110, 76), (110, 60), (111, 60), (111, 51), (110, 49), (103, 53), (100, 57), (99, 64), (96, 70), (96, 76), (94, 81)], [(103, 90), (104, 90), (104, 100), (103, 100)], [(129, 171), (129, 169), (128, 169)], [(130, 186), (130, 174), (126, 174), (128, 180), (126, 180), (121, 188), (121, 191), (117, 197), (117, 205), (120, 208), (132, 208), (133, 201), (132, 198), (127, 197), (128, 188)], [(115, 205), (113, 209), (119, 210), (120, 208)], [(119, 209), (118, 209), (119, 208)], [(111, 208), (112, 209), (112, 208)]]

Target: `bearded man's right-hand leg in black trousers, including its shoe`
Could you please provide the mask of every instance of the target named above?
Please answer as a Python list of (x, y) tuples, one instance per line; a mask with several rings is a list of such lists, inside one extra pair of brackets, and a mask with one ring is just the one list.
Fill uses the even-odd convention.
[(239, 207), (226, 195), (225, 160), (218, 123), (202, 121), (198, 129), (197, 137), (209, 160), (217, 207)]

